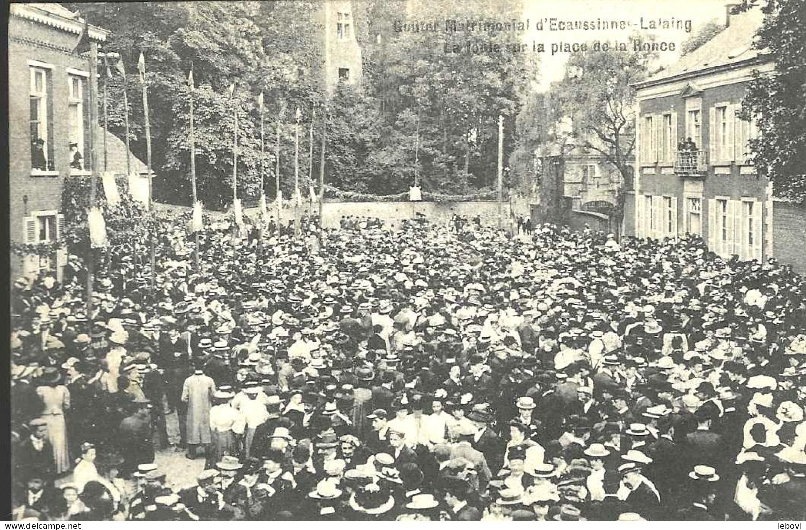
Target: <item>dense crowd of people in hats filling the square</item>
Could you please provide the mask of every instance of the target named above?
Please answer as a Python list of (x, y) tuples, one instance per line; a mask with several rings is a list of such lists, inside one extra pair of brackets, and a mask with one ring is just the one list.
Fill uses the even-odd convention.
[[(15, 519), (806, 519), (787, 266), (694, 236), (272, 229), (207, 227), (197, 269), (175, 223), (153, 278), (117, 249), (93, 315), (77, 257), (15, 282)], [(154, 463), (173, 442), (206, 460), (186, 489)]]

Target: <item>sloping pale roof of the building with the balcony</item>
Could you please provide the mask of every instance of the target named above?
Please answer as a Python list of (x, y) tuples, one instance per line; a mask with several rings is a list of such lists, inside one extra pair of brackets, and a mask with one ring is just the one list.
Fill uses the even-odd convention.
[(753, 48), (753, 42), (756, 31), (763, 22), (764, 15), (758, 7), (739, 15), (731, 15), (730, 25), (713, 39), (636, 86), (641, 88), (671, 77), (759, 59), (764, 51)]

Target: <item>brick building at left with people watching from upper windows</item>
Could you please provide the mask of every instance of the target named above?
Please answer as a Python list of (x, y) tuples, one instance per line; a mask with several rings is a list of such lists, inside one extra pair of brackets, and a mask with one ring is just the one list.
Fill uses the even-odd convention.
[[(64, 180), (89, 175), (87, 56), (73, 54), (84, 20), (58, 4), (12, 4), (9, 19), (10, 240), (48, 244), (60, 240)], [(108, 31), (89, 27), (91, 45)], [(96, 126), (98, 167), (103, 168), (102, 127)], [(126, 173), (126, 146), (107, 137), (110, 170)], [(76, 152), (79, 156), (76, 155)], [(131, 157), (133, 172), (145, 166)], [(142, 186), (138, 186), (142, 187)], [(61, 279), (66, 249), (50, 258), (10, 260), (11, 278), (52, 271)]]

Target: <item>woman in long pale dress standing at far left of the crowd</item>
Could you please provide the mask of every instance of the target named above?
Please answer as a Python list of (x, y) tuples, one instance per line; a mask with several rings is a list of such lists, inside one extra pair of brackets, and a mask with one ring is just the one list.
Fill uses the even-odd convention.
[(53, 460), (56, 462), (56, 474), (70, 470), (70, 451), (67, 443), (67, 424), (64, 411), (70, 408), (70, 390), (61, 382), (61, 374), (57, 369), (45, 369), (36, 387), (36, 394), (42, 399), (41, 419), (48, 424), (48, 441), (53, 448)]

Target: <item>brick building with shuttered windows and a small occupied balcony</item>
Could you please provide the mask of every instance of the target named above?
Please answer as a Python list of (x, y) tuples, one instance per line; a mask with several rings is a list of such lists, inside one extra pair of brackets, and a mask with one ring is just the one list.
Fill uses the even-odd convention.
[(762, 20), (758, 9), (729, 16), (708, 43), (636, 85), (635, 182), (625, 233), (696, 233), (723, 257), (776, 257), (804, 272), (806, 211), (773, 196), (748, 161), (757, 128), (736, 115), (754, 71), (774, 69), (753, 48)]

